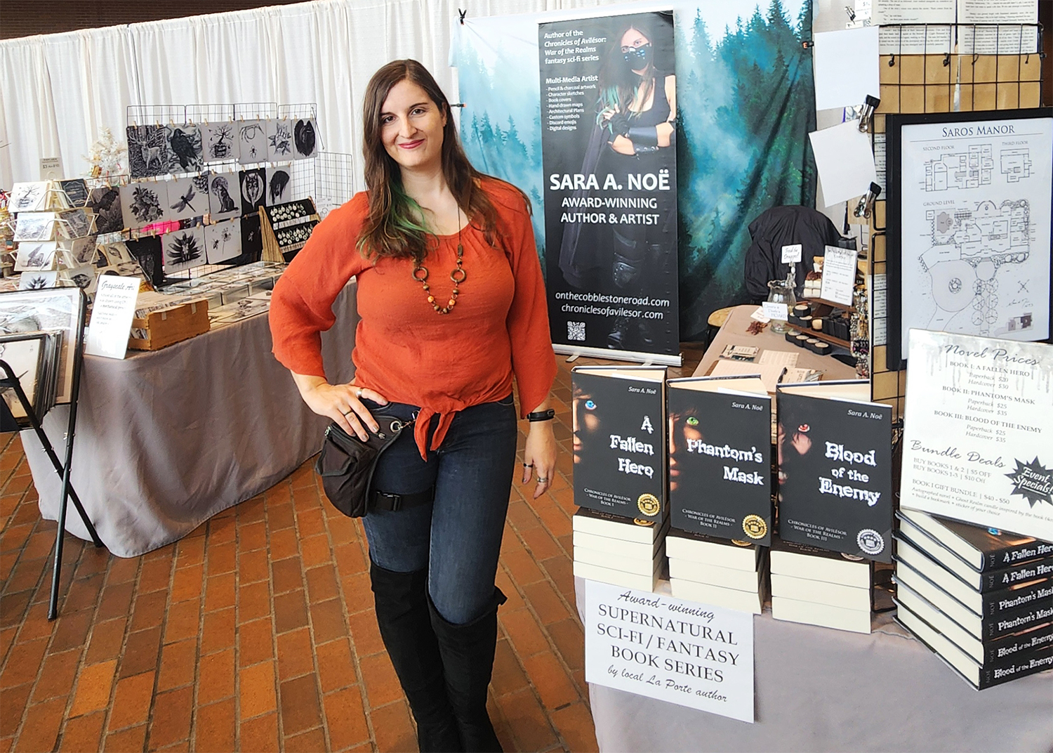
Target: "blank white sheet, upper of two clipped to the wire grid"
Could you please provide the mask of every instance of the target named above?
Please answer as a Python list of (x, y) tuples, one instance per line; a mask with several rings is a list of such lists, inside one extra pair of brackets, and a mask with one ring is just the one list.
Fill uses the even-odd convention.
[(815, 38), (815, 108), (862, 104), (879, 96), (877, 26), (820, 32)]

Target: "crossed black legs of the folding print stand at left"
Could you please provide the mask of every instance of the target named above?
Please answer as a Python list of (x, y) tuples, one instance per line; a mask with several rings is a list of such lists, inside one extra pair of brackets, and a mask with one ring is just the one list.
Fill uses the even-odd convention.
[[(59, 527), (58, 531), (55, 533), (55, 570), (52, 573), (52, 595), (47, 606), (47, 619), (55, 619), (59, 615), (59, 579), (62, 572), (62, 543), (63, 535), (65, 534), (67, 498), (73, 500), (73, 504), (77, 509), (80, 519), (84, 521), (84, 527), (92, 536), (92, 542), (95, 543), (96, 547), (103, 546), (102, 539), (100, 539), (99, 534), (96, 533), (95, 526), (92, 524), (92, 520), (87, 517), (87, 513), (84, 511), (84, 507), (80, 503), (80, 499), (77, 497), (77, 492), (74, 491), (73, 484), (69, 481), (71, 464), (73, 462), (73, 443), (77, 428), (77, 397), (80, 394), (80, 370), (83, 362), (83, 354), (81, 351), (84, 342), (84, 319), (87, 311), (87, 298), (83, 291), (79, 291), (79, 293), (80, 324), (76, 336), (74, 337), (74, 341), (69, 343), (69, 348), (74, 349), (73, 384), (69, 393), (69, 422), (66, 428), (66, 452), (64, 464), (59, 462), (58, 455), (55, 453), (55, 448), (52, 447), (51, 440), (44, 433), (43, 427), (40, 424), (40, 419), (37, 416), (37, 412), (33, 410), (33, 404), (29, 402), (25, 392), (22, 390), (22, 384), (15, 375), (15, 372), (6, 361), (0, 360), (0, 370), (3, 371), (3, 377), (0, 378), (0, 388), (9, 387), (15, 391), (15, 395), (18, 397), (19, 402), (22, 403), (22, 409), (25, 411), (25, 416), (29, 421), (29, 427), (34, 432), (36, 432), (37, 438), (40, 440), (40, 443), (44, 449), (44, 453), (47, 454), (47, 458), (52, 461), (52, 465), (55, 467), (55, 473), (62, 478), (62, 487), (59, 492)], [(56, 351), (56, 358), (60, 357), (60, 350)]]

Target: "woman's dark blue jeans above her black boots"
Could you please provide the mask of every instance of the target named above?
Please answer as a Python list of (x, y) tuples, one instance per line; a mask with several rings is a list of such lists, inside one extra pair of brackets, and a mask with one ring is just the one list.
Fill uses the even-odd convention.
[[(375, 416), (409, 419), (414, 405), (363, 400)], [(428, 437), (438, 423), (432, 418)], [(442, 445), (428, 460), (404, 431), (377, 463), (374, 489), (413, 494), (435, 484), (435, 501), (362, 518), (370, 558), (399, 573), (428, 570), (428, 591), (439, 614), (455, 625), (481, 616), (494, 603), (494, 576), (509, 509), (516, 459), (512, 395), (473, 405), (453, 420)]]

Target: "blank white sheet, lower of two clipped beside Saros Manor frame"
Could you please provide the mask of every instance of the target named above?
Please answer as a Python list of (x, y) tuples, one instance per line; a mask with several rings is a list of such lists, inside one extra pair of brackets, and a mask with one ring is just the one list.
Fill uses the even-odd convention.
[(822, 183), (827, 206), (866, 194), (877, 181), (870, 137), (860, 133), (857, 121), (808, 135), (815, 153), (815, 167)]

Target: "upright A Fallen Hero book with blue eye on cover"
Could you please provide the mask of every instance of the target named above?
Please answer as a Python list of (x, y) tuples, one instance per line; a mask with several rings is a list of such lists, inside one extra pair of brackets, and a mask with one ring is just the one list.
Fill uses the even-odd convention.
[(574, 503), (630, 518), (662, 518), (665, 370), (578, 366), (571, 380)]

